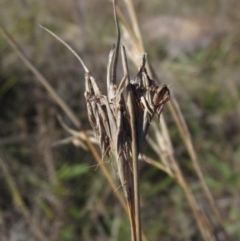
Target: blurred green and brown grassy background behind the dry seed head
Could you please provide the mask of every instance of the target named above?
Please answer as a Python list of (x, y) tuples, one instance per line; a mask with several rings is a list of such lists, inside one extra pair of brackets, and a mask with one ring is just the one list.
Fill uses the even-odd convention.
[[(171, 85), (227, 232), (240, 240), (240, 2), (134, 4), (148, 59), (161, 81)], [(108, 52), (116, 41), (111, 3), (1, 0), (0, 24), (89, 129), (84, 71), (37, 24), (77, 50), (104, 90)], [(131, 73), (134, 77), (136, 69)], [(57, 114), (72, 126), (0, 36), (0, 240), (128, 240), (127, 216), (92, 155), (72, 143), (53, 146), (69, 136)], [(207, 211), (167, 108), (164, 115), (174, 154)], [(151, 156), (148, 147), (146, 151)], [(106, 166), (114, 172), (110, 163)], [(142, 226), (148, 239), (201, 240), (175, 181), (147, 163), (141, 163), (140, 179)]]

